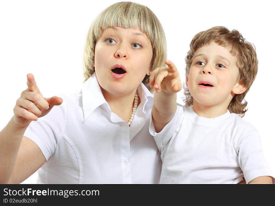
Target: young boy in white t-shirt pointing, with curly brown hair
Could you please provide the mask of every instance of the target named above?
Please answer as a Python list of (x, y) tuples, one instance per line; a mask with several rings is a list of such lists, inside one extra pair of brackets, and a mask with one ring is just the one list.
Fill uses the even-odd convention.
[(238, 183), (243, 177), (247, 183), (272, 183), (257, 129), (241, 119), (257, 74), (253, 46), (236, 30), (213, 27), (195, 35), (185, 60), (182, 108), (175, 102), (179, 77), (173, 64), (153, 71), (150, 79), (157, 92), (156, 132), (151, 123), (150, 133), (161, 151), (160, 183)]

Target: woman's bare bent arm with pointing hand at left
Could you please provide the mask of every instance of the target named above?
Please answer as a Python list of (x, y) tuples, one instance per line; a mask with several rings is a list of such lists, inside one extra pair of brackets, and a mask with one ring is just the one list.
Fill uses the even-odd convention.
[(17, 99), (12, 119), (0, 132), (1, 184), (20, 183), (45, 163), (39, 147), (23, 135), (31, 121), (45, 116), (62, 101), (58, 97), (44, 98), (33, 75), (27, 75), (27, 89)]

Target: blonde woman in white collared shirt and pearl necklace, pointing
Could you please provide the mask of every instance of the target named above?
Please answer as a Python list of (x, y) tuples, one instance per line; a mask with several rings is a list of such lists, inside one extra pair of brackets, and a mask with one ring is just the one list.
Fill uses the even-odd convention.
[(165, 35), (150, 9), (130, 2), (105, 9), (88, 33), (81, 92), (43, 98), (27, 75), (0, 133), (0, 182), (20, 183), (40, 168), (37, 183), (158, 183), (148, 88), (150, 71), (165, 59)]

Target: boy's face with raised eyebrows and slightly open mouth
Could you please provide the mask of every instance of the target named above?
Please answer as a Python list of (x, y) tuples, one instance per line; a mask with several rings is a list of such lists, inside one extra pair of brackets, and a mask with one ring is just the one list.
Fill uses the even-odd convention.
[(236, 61), (226, 47), (214, 42), (197, 49), (186, 77), (194, 105), (227, 109), (234, 95), (245, 91), (238, 83)]

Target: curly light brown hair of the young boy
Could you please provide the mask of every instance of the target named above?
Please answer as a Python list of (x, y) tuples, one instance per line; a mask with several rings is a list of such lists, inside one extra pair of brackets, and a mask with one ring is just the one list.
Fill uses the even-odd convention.
[[(190, 50), (185, 57), (186, 62), (186, 76), (189, 75), (189, 71), (193, 61), (193, 55), (197, 49), (204, 45), (215, 42), (220, 46), (230, 48), (230, 52), (237, 58), (237, 68), (239, 69), (239, 79), (246, 91), (242, 94), (236, 94), (229, 103), (228, 110), (231, 113), (238, 114), (243, 117), (247, 111), (247, 102), (244, 100), (246, 93), (251, 87), (258, 70), (258, 60), (254, 45), (245, 41), (237, 30), (228, 30), (226, 27), (216, 26), (211, 29), (199, 32), (194, 36), (190, 43)], [(184, 94), (186, 96), (184, 102), (186, 105), (193, 104), (193, 97), (191, 96), (189, 89), (184, 88)]]

